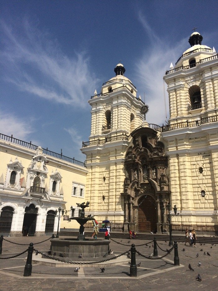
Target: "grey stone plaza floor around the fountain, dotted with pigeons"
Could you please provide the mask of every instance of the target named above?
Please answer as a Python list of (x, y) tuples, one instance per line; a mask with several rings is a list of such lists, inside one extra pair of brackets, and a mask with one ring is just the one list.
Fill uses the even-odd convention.
[[(42, 253), (50, 249), (50, 240), (37, 244), (48, 239), (47, 236), (41, 237), (4, 237), (19, 244), (33, 243), (34, 248)], [(60, 238), (64, 238), (61, 236)], [(149, 256), (153, 253), (152, 243), (147, 246), (149, 240), (137, 238), (128, 243), (128, 239), (111, 238), (115, 241), (110, 242), (110, 248), (114, 255), (120, 255), (130, 250), (131, 244), (141, 254)], [(151, 235), (151, 240), (154, 238)], [(119, 242), (119, 244), (117, 243)], [(170, 249), (168, 242), (157, 241), (163, 249)], [(36, 245), (37, 244), (37, 245)], [(137, 246), (141, 245), (142, 246)], [(33, 264), (31, 277), (24, 277), (24, 267), (26, 264), (27, 253), (13, 259), (0, 259), (0, 290), (218, 290), (218, 245), (196, 244), (196, 248), (184, 242), (178, 243), (178, 254), (180, 266), (174, 266), (174, 250), (163, 259), (150, 260), (136, 254), (137, 277), (130, 277), (130, 259), (123, 255), (117, 259), (100, 264), (66, 264), (58, 263), (55, 260), (45, 259), (40, 254), (37, 256), (33, 252)], [(211, 248), (212, 247), (212, 248)], [(1, 258), (17, 255), (28, 246), (16, 245), (3, 240)], [(182, 249), (185, 248), (185, 251)], [(202, 249), (202, 251), (201, 251)], [(206, 252), (206, 255), (204, 255)], [(207, 255), (210, 253), (210, 256)], [(198, 253), (198, 257), (197, 257)], [(158, 256), (163, 256), (166, 252), (158, 248)], [(63, 258), (57, 257), (64, 260)], [(108, 255), (104, 259), (110, 259)], [(37, 262), (36, 262), (37, 260)], [(73, 261), (73, 260), (72, 260)], [(78, 260), (75, 260), (79, 262)], [(198, 266), (198, 262), (201, 266)], [(191, 264), (194, 271), (188, 269)], [(60, 266), (61, 264), (61, 266)], [(80, 267), (78, 272), (74, 272), (76, 267)], [(104, 267), (105, 272), (101, 269)], [(202, 281), (196, 280), (198, 273)]]

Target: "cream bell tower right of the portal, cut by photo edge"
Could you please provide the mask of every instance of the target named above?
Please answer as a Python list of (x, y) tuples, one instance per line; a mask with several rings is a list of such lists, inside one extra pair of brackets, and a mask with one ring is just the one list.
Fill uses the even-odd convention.
[(182, 214), (173, 228), (218, 232), (218, 54), (193, 32), (191, 45), (164, 80), (169, 124), (161, 133), (169, 157), (172, 205)]

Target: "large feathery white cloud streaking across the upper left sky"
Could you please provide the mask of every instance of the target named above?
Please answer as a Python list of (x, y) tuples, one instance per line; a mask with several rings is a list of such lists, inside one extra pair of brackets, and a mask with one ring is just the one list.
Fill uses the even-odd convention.
[(79, 107), (87, 105), (87, 96), (96, 88), (97, 79), (84, 51), (66, 56), (47, 32), (33, 29), (28, 21), (23, 22), (20, 33), (5, 22), (1, 22), (1, 27), (4, 45), (1, 59), (8, 82), (34, 98)]

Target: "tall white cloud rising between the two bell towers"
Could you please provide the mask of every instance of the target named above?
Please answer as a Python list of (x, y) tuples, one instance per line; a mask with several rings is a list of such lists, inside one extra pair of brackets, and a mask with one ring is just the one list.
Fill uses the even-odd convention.
[(146, 21), (146, 17), (141, 13), (139, 13), (139, 21), (142, 23), (145, 33), (149, 36), (150, 46), (135, 61), (135, 78), (139, 80), (137, 89), (143, 101), (143, 93), (145, 92), (145, 103), (149, 105), (149, 112), (146, 116), (147, 121), (162, 125), (169, 118), (166, 84), (167, 118), (165, 114), (163, 76), (166, 70), (169, 70), (171, 62), (175, 65), (175, 61), (180, 57), (179, 54), (182, 55), (182, 52), (185, 51), (187, 39), (169, 42), (166, 39), (167, 37), (164, 38), (164, 36), (159, 36), (154, 32)]

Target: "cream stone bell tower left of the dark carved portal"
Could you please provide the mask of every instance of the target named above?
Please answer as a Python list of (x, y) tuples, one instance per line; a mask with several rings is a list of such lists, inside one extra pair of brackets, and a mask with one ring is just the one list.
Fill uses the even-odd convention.
[(119, 63), (116, 76), (103, 83), (101, 92), (91, 96), (91, 134), (81, 149), (86, 154), (87, 198), (90, 213), (97, 220), (116, 221), (123, 225), (124, 159), (130, 133), (143, 121), (140, 112), (144, 102), (136, 97), (137, 90), (124, 76)]

